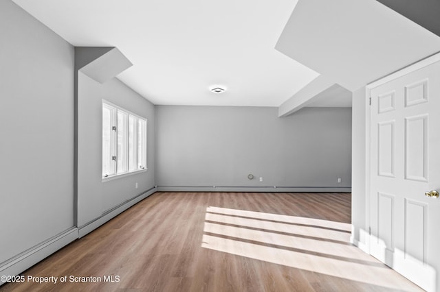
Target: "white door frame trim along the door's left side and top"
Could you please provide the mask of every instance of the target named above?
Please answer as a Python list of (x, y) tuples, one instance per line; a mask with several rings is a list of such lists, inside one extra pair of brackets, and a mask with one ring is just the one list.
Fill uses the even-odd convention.
[(429, 66), (431, 64), (434, 64), (435, 62), (440, 61), (440, 52), (434, 53), (426, 58), (423, 58), (415, 63), (412, 63), (408, 66), (405, 66), (402, 69), (399, 69), (398, 71), (395, 71), (391, 74), (388, 74), (384, 77), (381, 77), (378, 80), (375, 80), (373, 82), (370, 82), (366, 85), (365, 88), (365, 228), (367, 236), (366, 236), (366, 242), (362, 243), (362, 245), (358, 245), (361, 250), (366, 252), (367, 254), (371, 254), (371, 247), (370, 247), (370, 241), (371, 241), (371, 216), (370, 216), (370, 203), (371, 203), (371, 90), (377, 86), (380, 86), (382, 84), (386, 84), (387, 82), (390, 82), (392, 80), (395, 80), (399, 77), (402, 77), (404, 75), (407, 75), (408, 73), (417, 71), (419, 69), (422, 69), (426, 66)]

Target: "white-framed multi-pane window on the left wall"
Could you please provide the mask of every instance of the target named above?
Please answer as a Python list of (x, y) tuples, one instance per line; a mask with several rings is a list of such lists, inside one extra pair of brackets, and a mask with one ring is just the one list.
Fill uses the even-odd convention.
[(146, 169), (146, 119), (102, 101), (102, 178)]

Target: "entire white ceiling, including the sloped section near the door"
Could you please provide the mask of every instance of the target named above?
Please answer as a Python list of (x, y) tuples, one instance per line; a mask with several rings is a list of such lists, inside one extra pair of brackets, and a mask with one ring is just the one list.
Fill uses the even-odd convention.
[(349, 90), (440, 51), (375, 0), (13, 1), (74, 46), (120, 49), (133, 66), (118, 78), (153, 104), (298, 104), (321, 74), (336, 86), (303, 102), (350, 106)]

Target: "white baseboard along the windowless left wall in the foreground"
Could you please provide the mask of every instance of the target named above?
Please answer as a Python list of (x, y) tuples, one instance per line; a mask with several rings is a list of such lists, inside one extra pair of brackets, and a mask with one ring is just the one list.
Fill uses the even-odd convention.
[[(78, 239), (78, 228), (66, 230), (5, 262), (0, 266), (0, 276), (19, 275), (76, 239)], [(3, 280), (0, 280), (0, 285), (4, 283)]]

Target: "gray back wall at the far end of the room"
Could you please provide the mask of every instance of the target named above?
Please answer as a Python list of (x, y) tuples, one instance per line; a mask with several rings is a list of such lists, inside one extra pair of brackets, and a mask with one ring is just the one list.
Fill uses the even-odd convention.
[(277, 108), (156, 106), (156, 119), (158, 186), (351, 186), (350, 108), (278, 118)]

